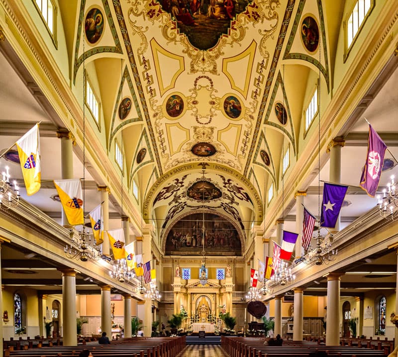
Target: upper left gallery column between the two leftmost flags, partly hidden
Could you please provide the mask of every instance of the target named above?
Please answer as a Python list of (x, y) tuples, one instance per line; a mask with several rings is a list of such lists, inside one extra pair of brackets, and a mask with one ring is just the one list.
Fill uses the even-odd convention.
[[(76, 145), (76, 139), (67, 129), (57, 131), (57, 137), (61, 139), (61, 178), (73, 178), (73, 145)], [(63, 208), (61, 224), (71, 228)]]

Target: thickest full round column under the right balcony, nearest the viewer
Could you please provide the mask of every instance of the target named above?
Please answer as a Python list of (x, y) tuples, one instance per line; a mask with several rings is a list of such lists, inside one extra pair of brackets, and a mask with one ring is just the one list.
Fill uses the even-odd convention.
[(340, 344), (340, 276), (341, 273), (327, 275), (326, 346)]

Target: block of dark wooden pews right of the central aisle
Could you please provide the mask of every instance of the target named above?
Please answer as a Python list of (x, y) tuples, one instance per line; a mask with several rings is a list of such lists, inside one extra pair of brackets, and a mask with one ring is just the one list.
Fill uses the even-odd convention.
[[(264, 338), (256, 337), (221, 337), (221, 347), (230, 357), (312, 357), (312, 356), (341, 356), (341, 357), (378, 357), (390, 354), (390, 345), (325, 346), (324, 343), (314, 341), (285, 341), (282, 346), (264, 346)], [(373, 346), (373, 347), (372, 347)], [(377, 345), (379, 347), (379, 345)], [(391, 349), (393, 351), (394, 348)]]

